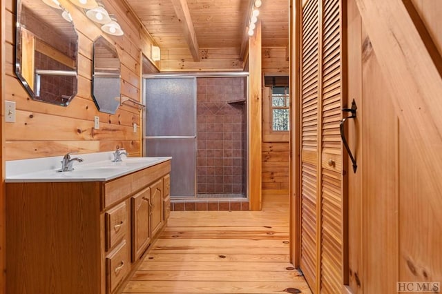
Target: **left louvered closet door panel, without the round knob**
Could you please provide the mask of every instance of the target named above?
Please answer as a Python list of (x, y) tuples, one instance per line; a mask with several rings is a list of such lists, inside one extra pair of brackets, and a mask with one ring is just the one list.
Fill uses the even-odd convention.
[(300, 268), (316, 288), (318, 208), (318, 1), (302, 8)]

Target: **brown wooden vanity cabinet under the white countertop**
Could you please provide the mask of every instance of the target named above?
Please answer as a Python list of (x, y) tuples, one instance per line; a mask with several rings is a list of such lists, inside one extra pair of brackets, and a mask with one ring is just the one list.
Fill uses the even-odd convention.
[(166, 222), (170, 170), (165, 161), (108, 182), (6, 183), (6, 293), (117, 293)]

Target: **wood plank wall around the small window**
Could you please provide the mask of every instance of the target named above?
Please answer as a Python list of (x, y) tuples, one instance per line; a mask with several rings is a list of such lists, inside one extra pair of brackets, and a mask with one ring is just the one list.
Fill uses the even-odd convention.
[[(287, 50), (287, 47), (262, 48), (262, 72), (288, 75)], [(289, 141), (262, 142), (262, 193), (289, 193), (289, 150)]]

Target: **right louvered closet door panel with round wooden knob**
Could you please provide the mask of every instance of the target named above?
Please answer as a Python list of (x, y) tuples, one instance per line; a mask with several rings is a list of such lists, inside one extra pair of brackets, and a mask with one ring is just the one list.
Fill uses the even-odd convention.
[(323, 1), (320, 292), (343, 285), (342, 32), (340, 0)]

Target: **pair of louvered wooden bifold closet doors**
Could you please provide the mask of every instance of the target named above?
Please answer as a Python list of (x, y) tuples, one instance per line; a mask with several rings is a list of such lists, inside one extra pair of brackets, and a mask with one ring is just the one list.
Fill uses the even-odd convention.
[(343, 285), (341, 10), (340, 0), (302, 8), (300, 268), (315, 293)]

